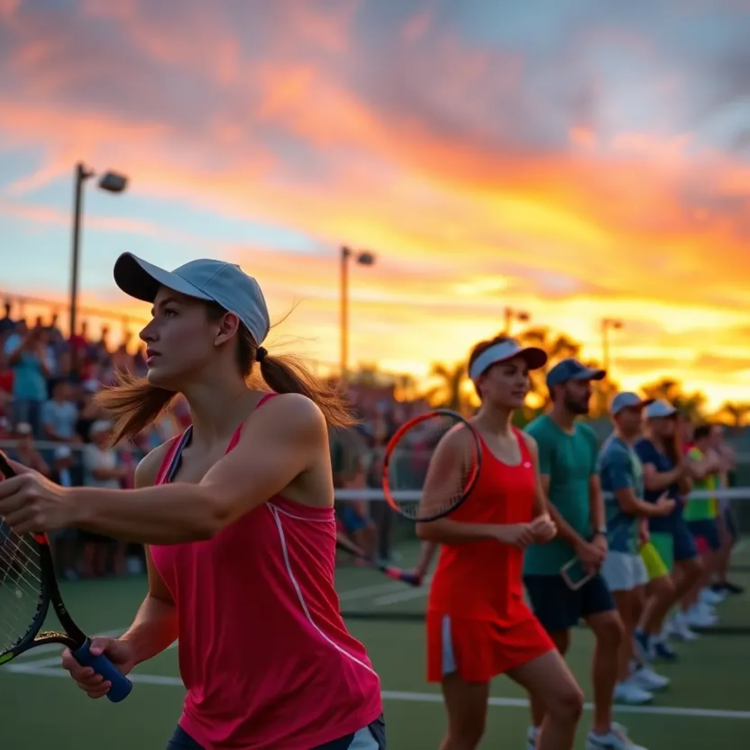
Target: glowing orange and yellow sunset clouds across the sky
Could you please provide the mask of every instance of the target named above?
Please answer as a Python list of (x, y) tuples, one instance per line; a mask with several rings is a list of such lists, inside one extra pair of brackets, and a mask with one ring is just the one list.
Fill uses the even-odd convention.
[[(467, 42), (432, 6), (404, 10), (367, 68), (372, 40), (355, 23), (364, 5), (321, 13), (274, 3), (240, 26), (192, 2), (170, 14), (86, 0), (83, 20), (117, 31), (99, 58), (107, 85), (92, 58), (74, 55), (72, 26), (58, 33), (15, 13), (26, 33), (2, 70), (23, 91), (0, 94), (0, 142), (40, 158), (5, 186), (0, 211), (64, 225), (67, 211), (35, 204), (32, 193), (67, 179), (83, 158), (124, 169), (139, 199), (292, 227), (329, 246), (327, 255), (290, 255), (153, 220), (92, 217), (113, 233), (238, 260), (259, 276), (275, 314), (300, 302), (284, 326), (312, 338), (319, 359), (337, 357), (335, 251), (347, 242), (379, 256), (353, 272), (354, 359), (415, 371), (460, 359), (502, 326), (509, 303), (593, 357), (597, 321), (621, 317), (612, 361), (625, 385), (673, 373), (715, 399), (739, 392), (750, 338), (750, 166), (682, 122), (628, 120), (604, 71), (554, 79), (537, 95), (533, 58)], [(601, 38), (658, 64), (658, 45), (637, 34)], [(566, 54), (546, 75), (580, 74), (583, 63)], [(670, 111), (686, 80), (673, 70), (649, 82)], [(559, 96), (549, 110), (547, 95)], [(607, 96), (618, 116), (597, 110)]]

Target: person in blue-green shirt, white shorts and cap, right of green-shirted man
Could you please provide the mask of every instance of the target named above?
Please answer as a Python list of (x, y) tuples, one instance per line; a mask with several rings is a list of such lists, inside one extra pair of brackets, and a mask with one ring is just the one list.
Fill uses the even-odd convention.
[(640, 601), (643, 587), (649, 580), (646, 565), (638, 553), (639, 527), (646, 529), (640, 519), (667, 515), (674, 508), (674, 500), (666, 496), (653, 504), (643, 500), (643, 466), (633, 450), (633, 443), (640, 434), (641, 416), (647, 404), (634, 393), (615, 396), (610, 409), (614, 432), (601, 447), (598, 458), (609, 545), (601, 574), (614, 596), (625, 626), (614, 695), (616, 700), (635, 704), (649, 702), (653, 698), (650, 690), (667, 684), (665, 678), (651, 670), (633, 673), (630, 670)]

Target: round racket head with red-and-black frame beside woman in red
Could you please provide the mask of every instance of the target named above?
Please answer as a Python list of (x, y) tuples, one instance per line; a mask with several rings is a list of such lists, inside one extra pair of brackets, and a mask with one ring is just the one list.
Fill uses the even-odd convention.
[(446, 517), (471, 494), (481, 469), (481, 439), (460, 414), (438, 409), (410, 419), (386, 446), (383, 493), (416, 522)]

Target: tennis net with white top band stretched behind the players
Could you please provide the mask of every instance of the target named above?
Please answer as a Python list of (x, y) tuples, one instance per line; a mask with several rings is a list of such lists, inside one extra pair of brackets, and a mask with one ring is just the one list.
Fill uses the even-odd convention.
[[(418, 493), (403, 493), (404, 499), (418, 499)], [(712, 493), (696, 491), (688, 502), (716, 499), (719, 508), (727, 508), (737, 530), (737, 541), (730, 558), (727, 580), (745, 588), (745, 593), (727, 595), (715, 606), (718, 622), (715, 633), (750, 635), (750, 487), (734, 487)], [(339, 516), (352, 520), (352, 514), (364, 512), (368, 529), (353, 532), (358, 544), (370, 542), (377, 555), (401, 568), (410, 569), (419, 559), (420, 542), (414, 524), (392, 511), (381, 490), (337, 490)], [(348, 517), (348, 518), (347, 518)], [(351, 526), (350, 526), (351, 527)], [(434, 568), (436, 559), (431, 566)], [(337, 588), (341, 610), (346, 618), (374, 621), (422, 622), (425, 618), (430, 577), (414, 587), (389, 580), (377, 571), (355, 564), (341, 553), (337, 568)]]

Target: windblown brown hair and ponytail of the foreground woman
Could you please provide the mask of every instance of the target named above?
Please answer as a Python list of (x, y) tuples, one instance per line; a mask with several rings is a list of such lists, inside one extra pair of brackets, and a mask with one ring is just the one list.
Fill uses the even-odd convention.
[[(208, 320), (217, 320), (226, 314), (226, 310), (214, 302), (207, 303), (205, 308)], [(251, 333), (241, 326), (237, 334), (236, 360), (246, 380), (253, 375), (257, 350), (258, 345)], [(318, 380), (301, 360), (291, 355), (270, 356), (267, 353), (262, 360), (260, 374), (272, 391), (307, 396), (317, 404), (332, 428), (355, 424), (356, 419), (341, 393), (335, 386)], [(151, 385), (144, 377), (118, 371), (115, 385), (102, 389), (95, 396), (96, 404), (107, 410), (114, 420), (110, 444), (115, 445), (123, 438), (133, 440), (169, 408), (176, 395), (174, 391)]]

